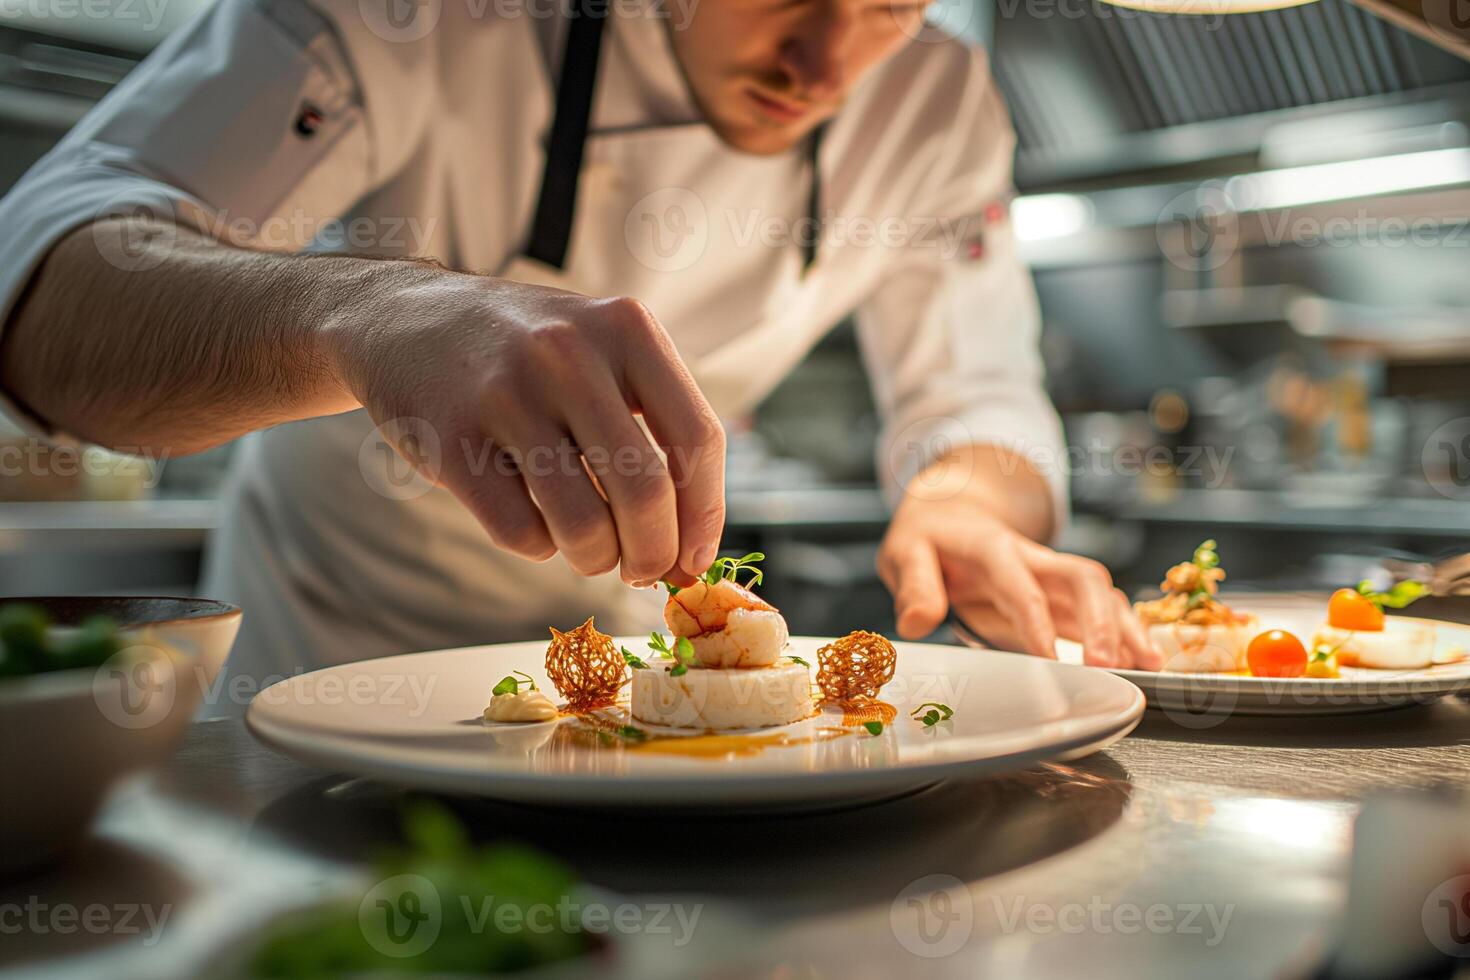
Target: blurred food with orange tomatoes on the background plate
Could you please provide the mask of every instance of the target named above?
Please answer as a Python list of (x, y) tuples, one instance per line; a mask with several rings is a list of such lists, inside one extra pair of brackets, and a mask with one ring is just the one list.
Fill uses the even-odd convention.
[(1189, 561), (1169, 569), (1163, 597), (1135, 604), (1164, 654), (1166, 671), (1330, 680), (1342, 676), (1341, 667), (1420, 670), (1464, 658), (1438, 651), (1433, 623), (1385, 616), (1385, 608), (1404, 608), (1426, 595), (1419, 582), (1399, 582), (1386, 592), (1370, 582), (1338, 589), (1327, 601), (1326, 621), (1310, 632), (1308, 646), (1297, 633), (1263, 629), (1260, 617), (1223, 602), (1223, 579), (1217, 545), (1205, 541)]

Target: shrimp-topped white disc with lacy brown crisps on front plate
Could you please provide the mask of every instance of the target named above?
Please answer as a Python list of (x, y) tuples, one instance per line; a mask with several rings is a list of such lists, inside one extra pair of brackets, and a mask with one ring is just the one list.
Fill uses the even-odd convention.
[[(816, 667), (794, 655), (786, 620), (754, 592), (763, 558), (719, 558), (694, 585), (663, 583), (669, 633), (650, 633), (647, 654), (619, 646), (591, 619), (566, 632), (553, 627), (545, 673), (562, 704), (517, 671), (492, 688), (484, 720), (569, 720), (625, 743), (678, 738), (684, 748), (697, 746), (695, 736), (803, 721), (817, 723), (813, 741), (881, 735), (897, 716), (879, 698), (894, 677), (894, 645), (856, 630), (819, 648)], [(948, 705), (928, 702), (911, 717), (933, 727), (953, 714)], [(710, 745), (732, 746), (717, 738)]]

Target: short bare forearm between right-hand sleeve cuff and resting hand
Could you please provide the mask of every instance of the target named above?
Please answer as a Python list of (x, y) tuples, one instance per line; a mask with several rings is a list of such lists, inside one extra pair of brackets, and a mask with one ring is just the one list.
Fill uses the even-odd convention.
[[(966, 495), (1032, 541), (1050, 541), (1057, 529), (1051, 486), (1023, 455), (991, 444), (961, 445), (925, 467), (904, 500)], [(900, 504), (903, 505), (903, 504)]]

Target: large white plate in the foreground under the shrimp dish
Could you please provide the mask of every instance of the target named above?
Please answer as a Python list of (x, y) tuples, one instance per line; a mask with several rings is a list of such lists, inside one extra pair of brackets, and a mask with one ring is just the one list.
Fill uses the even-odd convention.
[[(619, 642), (642, 649), (641, 639)], [(789, 652), (814, 669), (825, 642), (794, 636)], [(316, 670), (260, 692), (245, 721), (256, 738), (304, 763), (422, 789), (612, 807), (761, 807), (901, 793), (945, 776), (1076, 758), (1127, 735), (1144, 713), (1138, 688), (1102, 670), (960, 646), (897, 646), (897, 674), (882, 696), (898, 718), (881, 735), (850, 729), (725, 758), (662, 755), (648, 751), (653, 742), (601, 745), (579, 736), (572, 718), (481, 721), (491, 686), (512, 670), (551, 691), (544, 642)], [(925, 701), (951, 705), (954, 718), (923, 727), (908, 713)], [(838, 717), (779, 730), (800, 739)]]

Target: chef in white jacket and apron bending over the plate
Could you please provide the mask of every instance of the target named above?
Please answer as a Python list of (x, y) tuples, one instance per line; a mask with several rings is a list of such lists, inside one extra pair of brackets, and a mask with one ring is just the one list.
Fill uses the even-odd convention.
[(6, 411), (165, 457), (253, 433), (204, 585), (247, 610), (234, 713), (328, 663), (647, 630), (716, 557), (722, 420), (854, 314), (900, 633), (953, 608), (1155, 667), (1039, 544), (1013, 137), (923, 7), (218, 0), (0, 203)]

